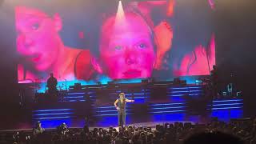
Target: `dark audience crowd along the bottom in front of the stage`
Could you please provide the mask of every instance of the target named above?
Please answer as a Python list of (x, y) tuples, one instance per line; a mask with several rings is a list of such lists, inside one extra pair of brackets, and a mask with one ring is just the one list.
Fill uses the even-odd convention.
[[(37, 123), (41, 127), (40, 122)], [(99, 143), (99, 144), (190, 144), (190, 143), (250, 143), (256, 141), (255, 137), (256, 119), (232, 120), (228, 123), (219, 122), (218, 119), (211, 121), (207, 125), (192, 124), (190, 122), (166, 123), (163, 126), (151, 127), (126, 126), (116, 130), (113, 127), (108, 129), (94, 128), (90, 130), (88, 126), (68, 129), (65, 123), (54, 131), (38, 132), (42, 137), (31, 137), (31, 132), (16, 132), (13, 135), (13, 143)], [(35, 130), (35, 129), (34, 129)], [(42, 130), (41, 130), (42, 131)], [(7, 138), (6, 138), (7, 141)]]

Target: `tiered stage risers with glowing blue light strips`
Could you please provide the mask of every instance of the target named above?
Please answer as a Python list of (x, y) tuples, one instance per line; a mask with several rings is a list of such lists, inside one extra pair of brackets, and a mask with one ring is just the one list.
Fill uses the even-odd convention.
[(214, 98), (209, 95), (206, 85), (154, 82), (70, 86), (69, 90), (62, 91), (58, 102), (47, 102), (43, 94), (23, 102), (26, 110), (22, 111), (23, 122), (19, 122), (18, 128), (30, 129), (38, 121), (45, 128), (55, 128), (62, 122), (69, 127), (118, 126), (114, 101), (120, 92), (124, 92), (126, 98), (135, 100), (126, 105), (127, 125), (206, 123), (211, 118), (227, 122), (243, 115), (241, 97)]

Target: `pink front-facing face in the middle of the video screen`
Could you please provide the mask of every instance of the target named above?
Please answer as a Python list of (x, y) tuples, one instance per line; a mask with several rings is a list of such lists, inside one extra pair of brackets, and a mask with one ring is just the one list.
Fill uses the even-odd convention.
[(115, 25), (115, 17), (106, 19), (100, 59), (110, 78), (149, 78), (155, 57), (152, 31), (138, 14), (126, 13), (126, 25)]

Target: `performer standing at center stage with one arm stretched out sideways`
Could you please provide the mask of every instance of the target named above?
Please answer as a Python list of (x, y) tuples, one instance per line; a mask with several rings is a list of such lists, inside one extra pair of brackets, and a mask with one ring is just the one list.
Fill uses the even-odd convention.
[(120, 93), (119, 98), (114, 102), (118, 110), (118, 126), (126, 125), (126, 102), (134, 102), (134, 100), (127, 99), (124, 93)]

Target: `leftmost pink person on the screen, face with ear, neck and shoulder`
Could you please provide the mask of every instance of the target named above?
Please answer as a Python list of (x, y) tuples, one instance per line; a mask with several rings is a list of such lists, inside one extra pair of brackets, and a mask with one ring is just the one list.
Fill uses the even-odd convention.
[[(74, 79), (74, 62), (82, 51), (63, 45), (58, 32), (62, 19), (58, 14), (50, 16), (42, 10), (26, 6), (15, 7), (17, 50), (22, 57), (18, 65), (18, 80), (45, 81), (52, 72), (58, 80)], [(22, 63), (29, 65), (24, 70)], [(26, 78), (24, 78), (24, 74)]]

